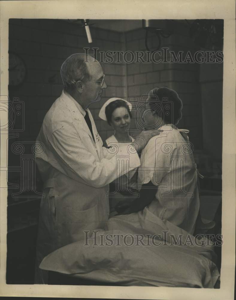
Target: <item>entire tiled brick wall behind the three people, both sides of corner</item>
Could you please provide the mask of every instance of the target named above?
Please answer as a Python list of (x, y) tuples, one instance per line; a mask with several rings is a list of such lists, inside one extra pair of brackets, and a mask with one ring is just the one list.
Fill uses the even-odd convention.
[[(188, 37), (186, 27), (181, 26), (178, 29), (179, 33), (167, 39), (161, 38), (161, 47), (169, 47), (176, 54), (178, 50), (199, 50)], [(67, 21), (10, 19), (9, 51), (18, 53), (27, 67), (25, 82), (18, 88), (9, 89), (10, 99), (19, 97), (19, 100), (25, 103), (25, 131), (20, 134), (19, 140), (36, 139), (47, 110), (61, 94), (60, 67), (69, 55), (84, 52), (83, 47), (98, 47), (103, 51), (145, 50), (143, 29), (126, 33), (95, 27), (90, 27), (90, 30), (92, 44), (88, 44), (83, 27)], [(148, 44), (151, 49), (156, 48), (157, 38), (154, 34), (149, 36)], [(178, 127), (189, 129), (189, 137), (195, 148), (202, 148), (201, 97), (207, 96), (202, 92), (206, 80), (200, 78), (199, 64), (106, 63), (102, 64), (102, 67), (108, 88), (103, 92), (102, 100), (92, 104), (90, 110), (103, 141), (113, 133), (112, 128), (98, 117), (99, 109), (106, 100), (114, 96), (125, 99), (140, 98), (155, 86), (167, 86), (178, 92), (184, 104), (183, 118)], [(214, 70), (208, 68), (208, 83), (211, 82), (213, 73)], [(218, 93), (215, 97), (219, 98), (220, 95)], [(220, 98), (218, 100), (220, 101)], [(136, 128), (134, 117), (131, 132)]]

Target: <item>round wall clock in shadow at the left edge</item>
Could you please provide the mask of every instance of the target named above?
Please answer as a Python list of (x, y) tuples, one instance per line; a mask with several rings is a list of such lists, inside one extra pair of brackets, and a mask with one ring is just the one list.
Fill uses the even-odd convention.
[(9, 85), (20, 85), (26, 76), (26, 66), (22, 58), (16, 53), (9, 52)]

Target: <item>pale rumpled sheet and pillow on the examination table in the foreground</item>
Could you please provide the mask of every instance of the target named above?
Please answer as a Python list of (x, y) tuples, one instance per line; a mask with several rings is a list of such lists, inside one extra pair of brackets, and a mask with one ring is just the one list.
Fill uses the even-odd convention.
[[(140, 243), (137, 246), (137, 233), (154, 235), (168, 231), (165, 244), (170, 242), (170, 233), (176, 238), (182, 234), (184, 241), (187, 238), (186, 231), (160, 220), (148, 208), (142, 212), (112, 217), (107, 222), (106, 230), (98, 230), (97, 246), (93, 245), (94, 240), (88, 240), (89, 246), (84, 246), (84, 240), (66, 245), (46, 256), (40, 268), (124, 286), (213, 288), (219, 277), (213, 262), (212, 246), (155, 246), (151, 242), (151, 246)], [(121, 245), (117, 246), (117, 237), (114, 237), (113, 245), (99, 246), (99, 234), (131, 234), (134, 243), (127, 246), (121, 238)], [(191, 238), (194, 241), (194, 237)], [(131, 238), (127, 239), (126, 244), (131, 244), (131, 241)], [(143, 243), (147, 244), (146, 238)]]

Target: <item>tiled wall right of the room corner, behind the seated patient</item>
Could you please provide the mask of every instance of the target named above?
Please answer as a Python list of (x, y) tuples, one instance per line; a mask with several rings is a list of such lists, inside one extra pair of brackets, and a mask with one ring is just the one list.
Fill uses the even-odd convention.
[[(161, 38), (161, 47), (168, 47), (175, 51), (196, 52), (198, 49), (188, 37), (187, 30), (183, 28), (180, 34)], [(138, 29), (125, 34), (127, 50), (145, 51), (145, 30)], [(155, 49), (158, 43), (156, 35), (150, 35), (148, 45)], [(160, 50), (160, 49), (159, 49)], [(169, 51), (169, 50), (168, 50)], [(183, 57), (184, 57), (183, 55)], [(159, 57), (157, 56), (156, 59)], [(161, 56), (163, 59), (163, 56)], [(168, 56), (167, 56), (168, 60)], [(167, 86), (174, 89), (183, 101), (183, 117), (178, 128), (190, 130), (190, 141), (194, 147), (202, 147), (201, 100), (199, 97), (199, 64), (190, 63), (133, 63), (127, 66), (128, 96), (138, 97), (146, 94), (154, 87)], [(135, 126), (135, 125), (134, 125)]]

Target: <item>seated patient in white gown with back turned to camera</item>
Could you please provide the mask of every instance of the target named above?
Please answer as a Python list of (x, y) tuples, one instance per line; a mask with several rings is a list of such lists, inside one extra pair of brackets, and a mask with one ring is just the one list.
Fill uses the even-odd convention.
[(163, 132), (150, 139), (141, 154), (139, 197), (116, 209), (130, 214), (147, 206), (161, 220), (193, 234), (197, 218), (200, 223), (198, 172), (186, 130), (176, 127), (182, 117), (182, 101), (176, 91), (167, 87), (154, 88), (148, 94), (145, 125)]

